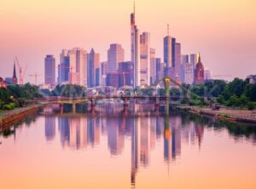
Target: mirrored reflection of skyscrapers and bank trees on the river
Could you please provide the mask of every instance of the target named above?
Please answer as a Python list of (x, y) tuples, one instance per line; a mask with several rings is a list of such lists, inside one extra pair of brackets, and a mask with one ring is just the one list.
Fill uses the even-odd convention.
[[(224, 123), (207, 117), (192, 116), (183, 112), (165, 110), (147, 110), (142, 107), (137, 111), (118, 112), (40, 112), (24, 121), (30, 126), (38, 117), (44, 117), (45, 140), (60, 140), (63, 149), (75, 151), (95, 148), (101, 144), (103, 136), (110, 156), (119, 156), (125, 145), (131, 146), (131, 186), (136, 186), (137, 173), (148, 168), (150, 155), (157, 145), (163, 146), (162, 157), (166, 165), (176, 163), (182, 157), (184, 145), (201, 149), (205, 129), (213, 128), (216, 132), (228, 130), (236, 140), (256, 141), (256, 129), (235, 123)], [(3, 129), (3, 137), (15, 136), (19, 124)], [(57, 129), (57, 130), (56, 130)], [(1, 139), (1, 137), (0, 137)], [(128, 140), (127, 140), (128, 139)], [(129, 144), (128, 144), (129, 143)], [(159, 159), (158, 159), (159, 161)]]

